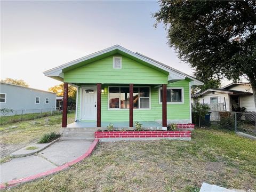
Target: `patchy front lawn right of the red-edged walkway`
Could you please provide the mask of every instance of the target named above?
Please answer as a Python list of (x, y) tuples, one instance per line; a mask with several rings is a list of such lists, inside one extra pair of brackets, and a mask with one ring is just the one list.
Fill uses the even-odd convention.
[(256, 189), (256, 142), (231, 132), (198, 129), (192, 141), (99, 143), (70, 169), (12, 191), (183, 191), (202, 182)]

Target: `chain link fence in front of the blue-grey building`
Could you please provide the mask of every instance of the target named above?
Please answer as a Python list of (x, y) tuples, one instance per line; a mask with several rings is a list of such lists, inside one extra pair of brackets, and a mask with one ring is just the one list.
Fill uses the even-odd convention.
[[(73, 113), (76, 107), (68, 107), (68, 113)], [(1, 109), (0, 125), (8, 123), (16, 123), (27, 121), (41, 117), (60, 115), (62, 108), (47, 108), (47, 109)]]

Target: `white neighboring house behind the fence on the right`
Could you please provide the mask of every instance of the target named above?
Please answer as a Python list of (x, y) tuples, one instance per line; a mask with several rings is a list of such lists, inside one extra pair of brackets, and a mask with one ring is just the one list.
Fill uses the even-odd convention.
[(221, 110), (226, 111), (238, 111), (243, 107), (245, 111), (256, 111), (252, 87), (249, 83), (231, 83), (221, 89), (207, 89), (197, 94), (197, 101), (221, 103)]

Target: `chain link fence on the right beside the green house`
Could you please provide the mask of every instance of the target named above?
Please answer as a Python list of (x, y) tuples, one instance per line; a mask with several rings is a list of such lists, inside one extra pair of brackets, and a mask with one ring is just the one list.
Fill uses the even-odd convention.
[(256, 112), (254, 111), (238, 113), (210, 110), (206, 115), (202, 114), (200, 111), (192, 113), (193, 123), (199, 127), (242, 132), (256, 137)]

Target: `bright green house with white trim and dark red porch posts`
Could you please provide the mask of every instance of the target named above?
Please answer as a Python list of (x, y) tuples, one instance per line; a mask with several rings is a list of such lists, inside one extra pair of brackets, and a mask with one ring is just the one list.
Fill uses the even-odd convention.
[[(148, 127), (191, 123), (190, 89), (203, 83), (115, 45), (47, 70), (64, 82), (62, 127)], [(76, 117), (67, 125), (67, 87), (77, 87)]]

